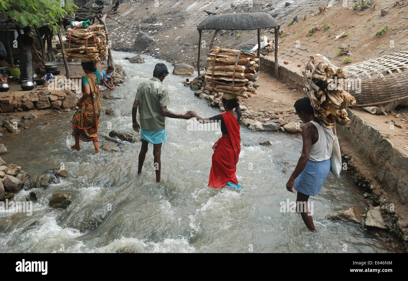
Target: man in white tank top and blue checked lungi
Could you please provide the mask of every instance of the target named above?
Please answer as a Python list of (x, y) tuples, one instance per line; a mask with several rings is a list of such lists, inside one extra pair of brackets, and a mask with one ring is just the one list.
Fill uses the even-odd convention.
[(286, 183), (286, 189), (290, 192), (297, 190), (296, 211), (302, 215), (307, 228), (316, 231), (308, 209), (308, 199), (322, 190), (330, 172), (334, 133), (320, 125), (308, 97), (297, 100), (295, 109), (296, 114), (306, 124), (302, 127), (302, 155)]

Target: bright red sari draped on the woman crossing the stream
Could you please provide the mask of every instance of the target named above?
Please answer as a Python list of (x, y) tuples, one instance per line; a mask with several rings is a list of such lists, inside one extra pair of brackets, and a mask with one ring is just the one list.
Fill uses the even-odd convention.
[(231, 112), (222, 114), (228, 135), (223, 135), (214, 144), (212, 165), (210, 170), (209, 187), (220, 188), (225, 186), (228, 181), (237, 185), (237, 163), (239, 152), (241, 151), (241, 136), (239, 135), (239, 123)]

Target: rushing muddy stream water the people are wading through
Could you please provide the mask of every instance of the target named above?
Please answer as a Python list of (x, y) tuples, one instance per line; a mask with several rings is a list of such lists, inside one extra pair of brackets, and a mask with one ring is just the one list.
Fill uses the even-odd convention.
[[(115, 52), (126, 69), (126, 82), (114, 91), (121, 97), (103, 100), (104, 109), (121, 115), (100, 118), (100, 144), (111, 130), (131, 131), (131, 106), (137, 84), (151, 77), (159, 62), (130, 64)], [(172, 67), (169, 66), (171, 72)], [(218, 112), (194, 97), (169, 75), (164, 80), (176, 113), (197, 111), (204, 117)], [(73, 151), (69, 120), (73, 112), (38, 118), (29, 129), (6, 136), (7, 163), (16, 163), (32, 176), (64, 164), (70, 177), (48, 188), (35, 188), (38, 202), (33, 213), (0, 213), (1, 252), (390, 252), (392, 249), (361, 225), (326, 220), (329, 213), (350, 206), (364, 208), (361, 191), (343, 174), (331, 175), (322, 192), (313, 198), (317, 233), (310, 233), (296, 213), (280, 212), (281, 201), (295, 200), (285, 184), (299, 157), (302, 139), (279, 133), (253, 133), (241, 128), (242, 151), (237, 177), (244, 188), (208, 188), (211, 146), (220, 137), (214, 131), (188, 131), (188, 122), (167, 119), (169, 138), (162, 147), (162, 184), (155, 181), (153, 147), (149, 146), (144, 171), (137, 175), (140, 143), (122, 142), (119, 152), (101, 150), (92, 155), (91, 143)], [(49, 125), (44, 124), (49, 122)], [(259, 137), (272, 146), (259, 146)], [(24, 201), (30, 191), (19, 192)], [(54, 192), (72, 193), (66, 210), (52, 209)]]

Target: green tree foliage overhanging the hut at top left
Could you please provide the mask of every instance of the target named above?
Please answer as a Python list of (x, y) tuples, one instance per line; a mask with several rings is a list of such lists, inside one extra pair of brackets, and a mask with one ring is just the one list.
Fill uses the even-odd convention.
[(66, 0), (0, 0), (0, 15), (26, 26), (48, 25), (57, 30), (62, 17), (78, 8)]

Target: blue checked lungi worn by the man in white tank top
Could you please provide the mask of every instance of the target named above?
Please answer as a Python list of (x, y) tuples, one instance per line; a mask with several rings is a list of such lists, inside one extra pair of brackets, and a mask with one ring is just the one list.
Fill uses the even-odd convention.
[(308, 160), (306, 167), (295, 179), (293, 189), (309, 196), (317, 195), (330, 173), (330, 159), (315, 162)]

